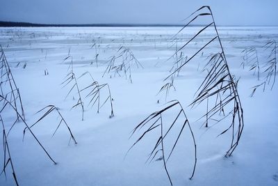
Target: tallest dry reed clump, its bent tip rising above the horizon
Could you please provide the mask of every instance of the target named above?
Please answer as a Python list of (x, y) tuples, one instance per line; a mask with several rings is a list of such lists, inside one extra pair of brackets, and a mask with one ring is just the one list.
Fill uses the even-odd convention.
[[(177, 52), (180, 52), (186, 46), (193, 44), (194, 40), (198, 38), (201, 33), (204, 33), (204, 31), (206, 31), (206, 29), (210, 27), (212, 27), (215, 31), (215, 36), (212, 36), (210, 39), (208, 39), (208, 41), (206, 41), (205, 44), (197, 50), (197, 52), (195, 52), (192, 56), (189, 56), (187, 61), (181, 64), (179, 68), (174, 70), (174, 72), (172, 72), (165, 79), (172, 77), (172, 75), (177, 73), (178, 70), (181, 70), (181, 68), (183, 68), (186, 64), (188, 64), (190, 61), (193, 61), (193, 59), (195, 59), (198, 54), (201, 54), (201, 52), (203, 52), (204, 49), (208, 48), (208, 46), (212, 42), (218, 43), (220, 47), (220, 52), (213, 54), (204, 66), (204, 68), (206, 69), (205, 71), (208, 73), (204, 78), (202, 84), (197, 89), (195, 93), (195, 99), (193, 100), (193, 102), (191, 102), (190, 105), (194, 107), (201, 104), (205, 100), (207, 101), (208, 98), (214, 98), (215, 104), (209, 107), (206, 113), (201, 118), (205, 117), (206, 121), (211, 120), (216, 121), (216, 123), (219, 123), (224, 118), (227, 118), (227, 116), (232, 116), (231, 124), (221, 133), (224, 134), (229, 130), (232, 131), (231, 145), (226, 153), (226, 156), (230, 156), (238, 146), (238, 142), (240, 141), (240, 137), (243, 132), (244, 126), (243, 107), (240, 102), (240, 97), (237, 88), (238, 81), (235, 79), (233, 75), (231, 75), (231, 72), (229, 70), (227, 57), (224, 53), (222, 42), (218, 34), (218, 29), (216, 27), (211, 8), (209, 6), (202, 6), (194, 13), (192, 13), (188, 18), (192, 16), (193, 18), (190, 19), (188, 24), (183, 26), (183, 28), (180, 29), (178, 33), (174, 35), (173, 38), (176, 38), (178, 34), (181, 31), (183, 31), (183, 29), (186, 29), (188, 26), (190, 26), (192, 22), (198, 20), (201, 17), (211, 17), (211, 21), (205, 26), (203, 26), (202, 29), (199, 29), (199, 31), (194, 36), (192, 36), (182, 47), (180, 47), (177, 50)], [(177, 52), (175, 52), (172, 56), (176, 55)], [(228, 114), (224, 114), (224, 109), (229, 110), (227, 112)], [(222, 118), (215, 119), (214, 117), (218, 116), (218, 114), (220, 113), (223, 114)]]

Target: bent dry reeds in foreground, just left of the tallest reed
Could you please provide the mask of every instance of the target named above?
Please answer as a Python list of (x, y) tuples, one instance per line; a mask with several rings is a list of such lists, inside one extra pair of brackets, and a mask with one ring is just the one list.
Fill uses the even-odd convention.
[[(136, 144), (138, 144), (140, 141), (142, 141), (142, 139), (145, 136), (147, 136), (147, 134), (152, 133), (155, 130), (158, 130), (159, 135), (157, 137), (156, 144), (154, 145), (154, 148), (152, 149), (149, 156), (147, 157), (146, 162), (152, 162), (152, 160), (154, 160), (156, 157), (158, 157), (160, 155), (160, 157), (158, 157), (158, 159), (156, 159), (156, 161), (163, 160), (163, 167), (165, 169), (165, 172), (167, 173), (167, 177), (170, 181), (170, 184), (172, 185), (172, 179), (171, 179), (170, 173), (167, 169), (167, 161), (170, 160), (170, 157), (171, 157), (175, 147), (177, 146), (177, 143), (179, 142), (181, 134), (183, 133), (183, 130), (185, 129), (186, 126), (188, 126), (188, 129), (190, 130), (190, 134), (191, 134), (191, 137), (193, 139), (193, 144), (194, 144), (194, 151), (195, 151), (195, 162), (194, 162), (193, 172), (190, 176), (190, 179), (193, 178), (194, 173), (195, 173), (195, 168), (196, 168), (196, 164), (197, 164), (197, 148), (196, 148), (196, 141), (195, 141), (193, 131), (190, 127), (190, 123), (188, 121), (186, 113), (185, 113), (183, 107), (181, 107), (180, 102), (177, 100), (172, 100), (172, 101), (168, 102), (168, 104), (169, 105), (167, 107), (164, 107), (163, 109), (161, 109), (159, 111), (155, 111), (154, 113), (147, 116), (147, 118), (145, 118), (141, 123), (139, 123), (133, 129), (133, 131), (131, 132), (131, 137), (136, 132), (140, 132), (140, 130), (143, 127), (146, 128), (146, 130), (143, 130), (142, 132), (140, 132), (138, 139), (131, 146), (131, 148), (133, 148), (134, 146), (136, 146)], [(174, 121), (172, 121), (171, 123), (165, 123), (163, 121), (163, 115), (166, 114), (167, 112), (170, 112), (170, 110), (174, 109), (174, 108), (179, 110), (176, 114), (174, 114), (174, 116), (175, 116)], [(181, 123), (178, 122), (179, 119), (183, 122), (181, 122)], [(170, 134), (170, 132), (172, 132), (174, 126), (179, 126), (179, 125), (181, 125), (180, 126), (181, 129), (179, 130), (177, 137), (174, 139), (173, 146), (170, 147), (170, 152), (168, 152), (168, 155), (166, 156), (165, 151), (167, 150), (167, 148), (165, 148), (164, 144), (165, 144), (166, 140), (170, 140), (169, 138), (167, 139), (166, 137), (168, 136), (168, 134)], [(131, 148), (129, 148), (129, 150), (131, 150)], [(129, 153), (129, 150), (127, 153)]]

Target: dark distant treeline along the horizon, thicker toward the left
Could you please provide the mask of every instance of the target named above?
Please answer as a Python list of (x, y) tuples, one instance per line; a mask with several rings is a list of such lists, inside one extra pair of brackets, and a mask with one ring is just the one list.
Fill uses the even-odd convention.
[[(182, 24), (35, 24), (29, 22), (0, 22), (0, 27), (10, 26), (183, 26)], [(197, 25), (195, 25), (197, 26)]]

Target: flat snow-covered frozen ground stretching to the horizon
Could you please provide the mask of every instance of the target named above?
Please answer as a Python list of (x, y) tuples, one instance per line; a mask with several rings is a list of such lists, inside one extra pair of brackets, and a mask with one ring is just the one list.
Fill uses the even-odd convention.
[[(167, 59), (174, 54), (176, 47), (186, 43), (199, 28), (190, 27), (183, 31), (176, 46), (170, 38), (179, 29), (1, 28), (0, 44), (22, 96), (26, 123), (35, 123), (41, 116), (35, 113), (54, 104), (70, 125), (77, 141), (76, 145), (72, 141), (68, 144), (70, 136), (65, 125), (61, 125), (51, 137), (59, 123), (56, 114), (47, 116), (33, 127), (33, 132), (44, 148), (58, 162), (54, 165), (30, 132), (26, 132), (22, 141), (24, 125), (22, 122), (16, 123), (8, 136), (8, 143), (19, 185), (170, 185), (163, 161), (145, 163), (157, 141), (155, 132), (146, 135), (126, 155), (136, 141), (136, 137), (129, 139), (133, 128), (152, 112), (163, 109), (163, 104), (170, 100), (179, 100), (183, 105), (197, 143), (197, 167), (195, 176), (189, 180), (194, 164), (194, 148), (186, 129), (168, 164), (174, 185), (278, 185), (278, 85), (276, 82), (272, 91), (270, 86), (266, 86), (264, 92), (258, 88), (250, 98), (252, 86), (260, 82), (247, 67), (240, 67), (243, 49), (256, 47), (263, 69), (263, 63), (270, 53), (263, 46), (270, 39), (278, 39), (278, 27), (218, 28), (231, 73), (240, 79), (238, 93), (245, 118), (240, 144), (231, 157), (224, 157), (229, 149), (231, 133), (217, 137), (229, 125), (231, 118), (206, 128), (202, 126), (204, 120), (198, 120), (206, 107), (188, 107), (206, 74), (202, 72), (206, 56), (219, 51), (217, 42), (213, 42), (182, 68), (174, 81), (176, 91), (170, 89), (166, 99), (165, 92), (158, 93), (167, 82), (163, 82), (163, 79), (170, 75), (169, 70), (174, 63), (174, 59)], [(194, 54), (212, 36), (215, 33), (209, 29), (183, 53), (187, 56)], [(111, 56), (117, 54), (122, 46), (129, 48), (144, 67), (131, 67), (132, 84), (129, 77), (104, 75)], [(88, 106), (90, 100), (82, 94), (84, 121), (81, 120), (81, 107), (71, 109), (77, 102), (78, 94), (74, 88), (65, 99), (71, 86), (63, 87), (61, 84), (69, 72), (71, 61), (76, 77), (90, 72), (99, 84), (110, 86), (115, 114), (113, 118), (109, 118), (111, 110), (108, 102), (97, 114), (96, 107)], [(44, 70), (49, 75), (44, 75)], [(92, 83), (92, 79), (87, 74), (77, 79), (77, 82), (80, 88), (85, 88)], [(13, 115), (9, 111), (2, 115), (8, 129), (13, 124)], [(174, 117), (174, 111), (165, 115), (165, 121), (170, 121), (171, 117)], [(3, 145), (0, 147), (2, 152)], [(0, 153), (0, 160), (3, 160), (3, 153)], [(6, 173), (7, 178), (4, 174), (0, 176), (0, 185), (15, 185), (10, 166)]]

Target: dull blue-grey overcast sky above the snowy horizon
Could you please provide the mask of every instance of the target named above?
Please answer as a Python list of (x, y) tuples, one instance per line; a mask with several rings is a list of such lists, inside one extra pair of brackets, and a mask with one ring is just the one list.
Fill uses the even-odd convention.
[(278, 0), (3, 0), (0, 20), (44, 24), (181, 24), (203, 5), (218, 25), (278, 25)]

